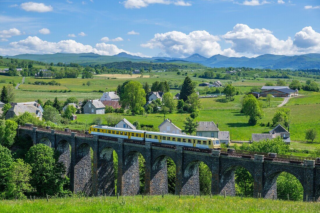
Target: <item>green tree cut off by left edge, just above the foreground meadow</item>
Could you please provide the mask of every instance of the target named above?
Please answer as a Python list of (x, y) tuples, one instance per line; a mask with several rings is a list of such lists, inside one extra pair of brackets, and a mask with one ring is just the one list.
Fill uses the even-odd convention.
[[(0, 192), (6, 187), (6, 175), (13, 162), (11, 151), (0, 144)], [(1, 194), (1, 193), (0, 193)]]

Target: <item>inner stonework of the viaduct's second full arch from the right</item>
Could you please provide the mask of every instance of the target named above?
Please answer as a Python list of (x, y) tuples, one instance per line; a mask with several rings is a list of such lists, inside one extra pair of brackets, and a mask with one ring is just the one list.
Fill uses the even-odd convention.
[(235, 172), (237, 168), (244, 168), (246, 169), (252, 176), (254, 177), (254, 172), (252, 168), (248, 167), (242, 162), (232, 162), (225, 165), (219, 174), (219, 194), (222, 195), (226, 193), (228, 196), (236, 196), (236, 189), (235, 189)]

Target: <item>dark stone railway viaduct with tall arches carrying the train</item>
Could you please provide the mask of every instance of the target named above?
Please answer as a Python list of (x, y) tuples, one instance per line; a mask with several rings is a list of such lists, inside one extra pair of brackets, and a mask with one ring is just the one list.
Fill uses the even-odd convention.
[[(303, 186), (303, 196), (320, 201), (320, 159), (252, 153), (234, 149), (197, 149), (120, 138), (93, 136), (76, 130), (51, 130), (50, 127), (19, 126), (18, 135), (29, 137), (33, 144), (44, 143), (60, 152), (59, 161), (67, 168), (71, 191), (93, 195), (115, 195), (113, 151), (117, 153), (119, 195), (138, 194), (139, 162), (145, 165), (145, 193), (168, 193), (166, 160), (176, 165), (175, 194), (199, 194), (198, 165), (204, 162), (211, 170), (212, 194), (235, 195), (234, 173), (247, 169), (254, 180), (254, 194), (276, 198), (276, 179), (281, 172), (294, 175)], [(71, 147), (71, 148), (70, 148)], [(93, 168), (90, 147), (93, 150)]]

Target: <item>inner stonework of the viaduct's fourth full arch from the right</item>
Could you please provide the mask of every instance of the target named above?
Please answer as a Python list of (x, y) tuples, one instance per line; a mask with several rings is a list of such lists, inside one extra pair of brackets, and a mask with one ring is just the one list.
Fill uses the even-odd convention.
[[(172, 160), (170, 156), (164, 154), (158, 154), (157, 156), (155, 156), (155, 159), (151, 164), (150, 171), (150, 195), (169, 193), (167, 169), (167, 160), (169, 158)], [(174, 164), (176, 165), (175, 162)], [(174, 182), (175, 181), (176, 180), (174, 180)]]

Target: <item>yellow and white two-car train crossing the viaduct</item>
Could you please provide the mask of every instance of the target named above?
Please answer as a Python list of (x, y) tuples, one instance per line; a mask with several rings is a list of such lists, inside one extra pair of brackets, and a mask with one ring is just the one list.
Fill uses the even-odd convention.
[(89, 134), (149, 142), (158, 142), (164, 144), (174, 144), (180, 146), (193, 146), (198, 148), (220, 148), (220, 141), (218, 138), (207, 138), (200, 136), (151, 132), (143, 130), (130, 130), (103, 125), (90, 126)]

